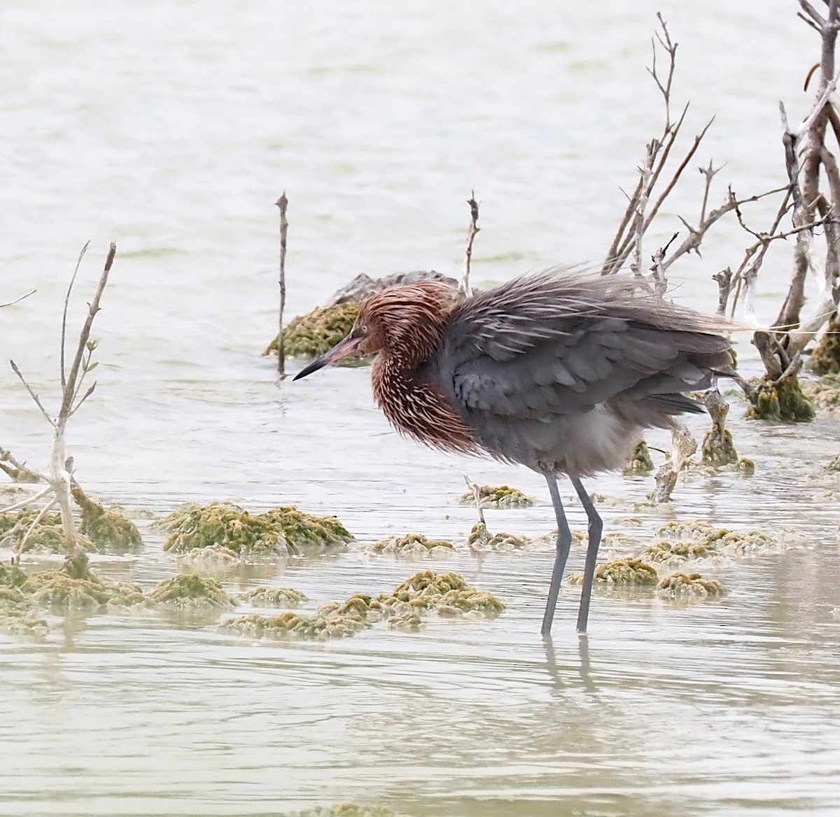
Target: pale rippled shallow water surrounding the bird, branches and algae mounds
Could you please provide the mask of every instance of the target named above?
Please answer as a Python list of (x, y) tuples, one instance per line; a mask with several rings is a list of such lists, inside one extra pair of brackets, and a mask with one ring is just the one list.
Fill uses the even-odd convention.
[[(760, 16), (676, 0), (317, 8), (4, 4), (0, 302), (38, 293), (0, 311), (3, 355), (55, 405), (76, 253), (92, 236), (71, 336), (117, 240), (94, 328), (97, 392), (68, 442), (79, 480), (128, 509), (146, 548), (103, 571), (145, 588), (171, 575), (145, 520), (186, 499), (298, 503), (338, 514), (358, 543), (229, 572), (229, 589), (290, 584), (312, 607), (432, 567), (462, 572), (507, 611), (317, 645), (163, 614), (50, 619), (43, 643), (0, 635), (0, 814), (340, 802), (417, 815), (835, 814), (840, 551), (825, 492), (840, 486), (822, 471), (840, 441), (832, 417), (748, 424), (736, 403), (736, 443), (756, 476), (694, 477), (668, 507), (634, 505), (650, 477), (592, 480), (607, 531), (643, 538), (672, 517), (701, 518), (789, 529), (790, 546), (704, 565), (731, 588), (720, 602), (599, 594), (586, 640), (564, 589), (547, 646), (551, 546), (477, 560), (465, 548), (475, 512), (456, 502), (463, 472), (512, 482), (541, 503), (487, 512), (491, 530), (544, 534), (541, 480), (400, 440), (365, 369), (277, 387), (258, 354), (276, 327), (272, 203), (284, 188), (291, 314), (358, 271), (457, 273), (472, 188), (477, 280), (599, 261), (617, 187), (633, 185), (659, 129), (644, 71), (658, 9), (681, 44), (676, 96), (692, 99), (691, 126), (717, 114), (698, 162), (729, 161), (719, 178), (742, 194), (779, 185), (777, 101), (804, 110), (817, 58), (795, 3), (764, 3)], [(677, 210), (696, 212), (697, 185), (687, 178), (658, 235), (680, 229)], [(709, 277), (743, 244), (737, 229), (710, 236), (702, 260), (675, 270), (677, 296), (711, 306)], [(786, 270), (780, 248), (762, 273), (764, 317)], [(754, 370), (750, 352), (742, 343)], [(45, 420), (2, 368), (0, 417), (0, 445), (45, 466)], [(702, 419), (692, 427), (702, 434)], [(575, 503), (570, 516), (582, 526)], [(459, 551), (412, 562), (360, 548), (409, 530)], [(579, 548), (571, 569), (581, 561)]]

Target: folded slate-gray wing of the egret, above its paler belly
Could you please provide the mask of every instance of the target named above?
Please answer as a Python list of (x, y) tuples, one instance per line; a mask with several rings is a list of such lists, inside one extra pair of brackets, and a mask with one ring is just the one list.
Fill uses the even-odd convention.
[(675, 398), (730, 362), (726, 324), (631, 284), (543, 273), (470, 299), (444, 330), (444, 390), (468, 414), (522, 419), (582, 414), (612, 398), (691, 410)]

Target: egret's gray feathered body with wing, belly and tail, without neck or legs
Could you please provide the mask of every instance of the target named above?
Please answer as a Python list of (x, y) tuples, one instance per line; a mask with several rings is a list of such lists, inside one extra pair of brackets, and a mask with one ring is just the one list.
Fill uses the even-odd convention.
[(726, 333), (633, 278), (549, 271), (455, 308), (434, 370), (491, 455), (585, 476), (622, 466), (644, 428), (702, 410), (684, 393), (731, 364)]

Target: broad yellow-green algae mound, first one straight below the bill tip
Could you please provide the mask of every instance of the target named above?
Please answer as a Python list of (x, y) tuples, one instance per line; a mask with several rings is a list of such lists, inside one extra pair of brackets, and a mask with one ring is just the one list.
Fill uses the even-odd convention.
[(192, 553), (215, 548), (221, 556), (286, 556), (305, 547), (345, 545), (353, 539), (334, 516), (315, 516), (294, 505), (249, 514), (239, 505), (187, 504), (155, 526), (171, 531), (164, 550)]

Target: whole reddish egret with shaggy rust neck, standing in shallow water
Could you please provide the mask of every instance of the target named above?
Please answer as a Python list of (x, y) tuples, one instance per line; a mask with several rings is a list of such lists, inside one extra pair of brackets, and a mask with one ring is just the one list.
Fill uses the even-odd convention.
[(570, 478), (589, 519), (577, 621), (585, 632), (602, 522), (580, 478), (624, 466), (643, 429), (703, 411), (684, 392), (727, 370), (730, 346), (722, 319), (665, 301), (632, 277), (554, 270), (465, 299), (440, 282), (382, 290), (295, 380), (378, 352), (373, 393), (397, 431), (545, 477), (557, 516), (548, 635), (572, 539), (557, 475)]

